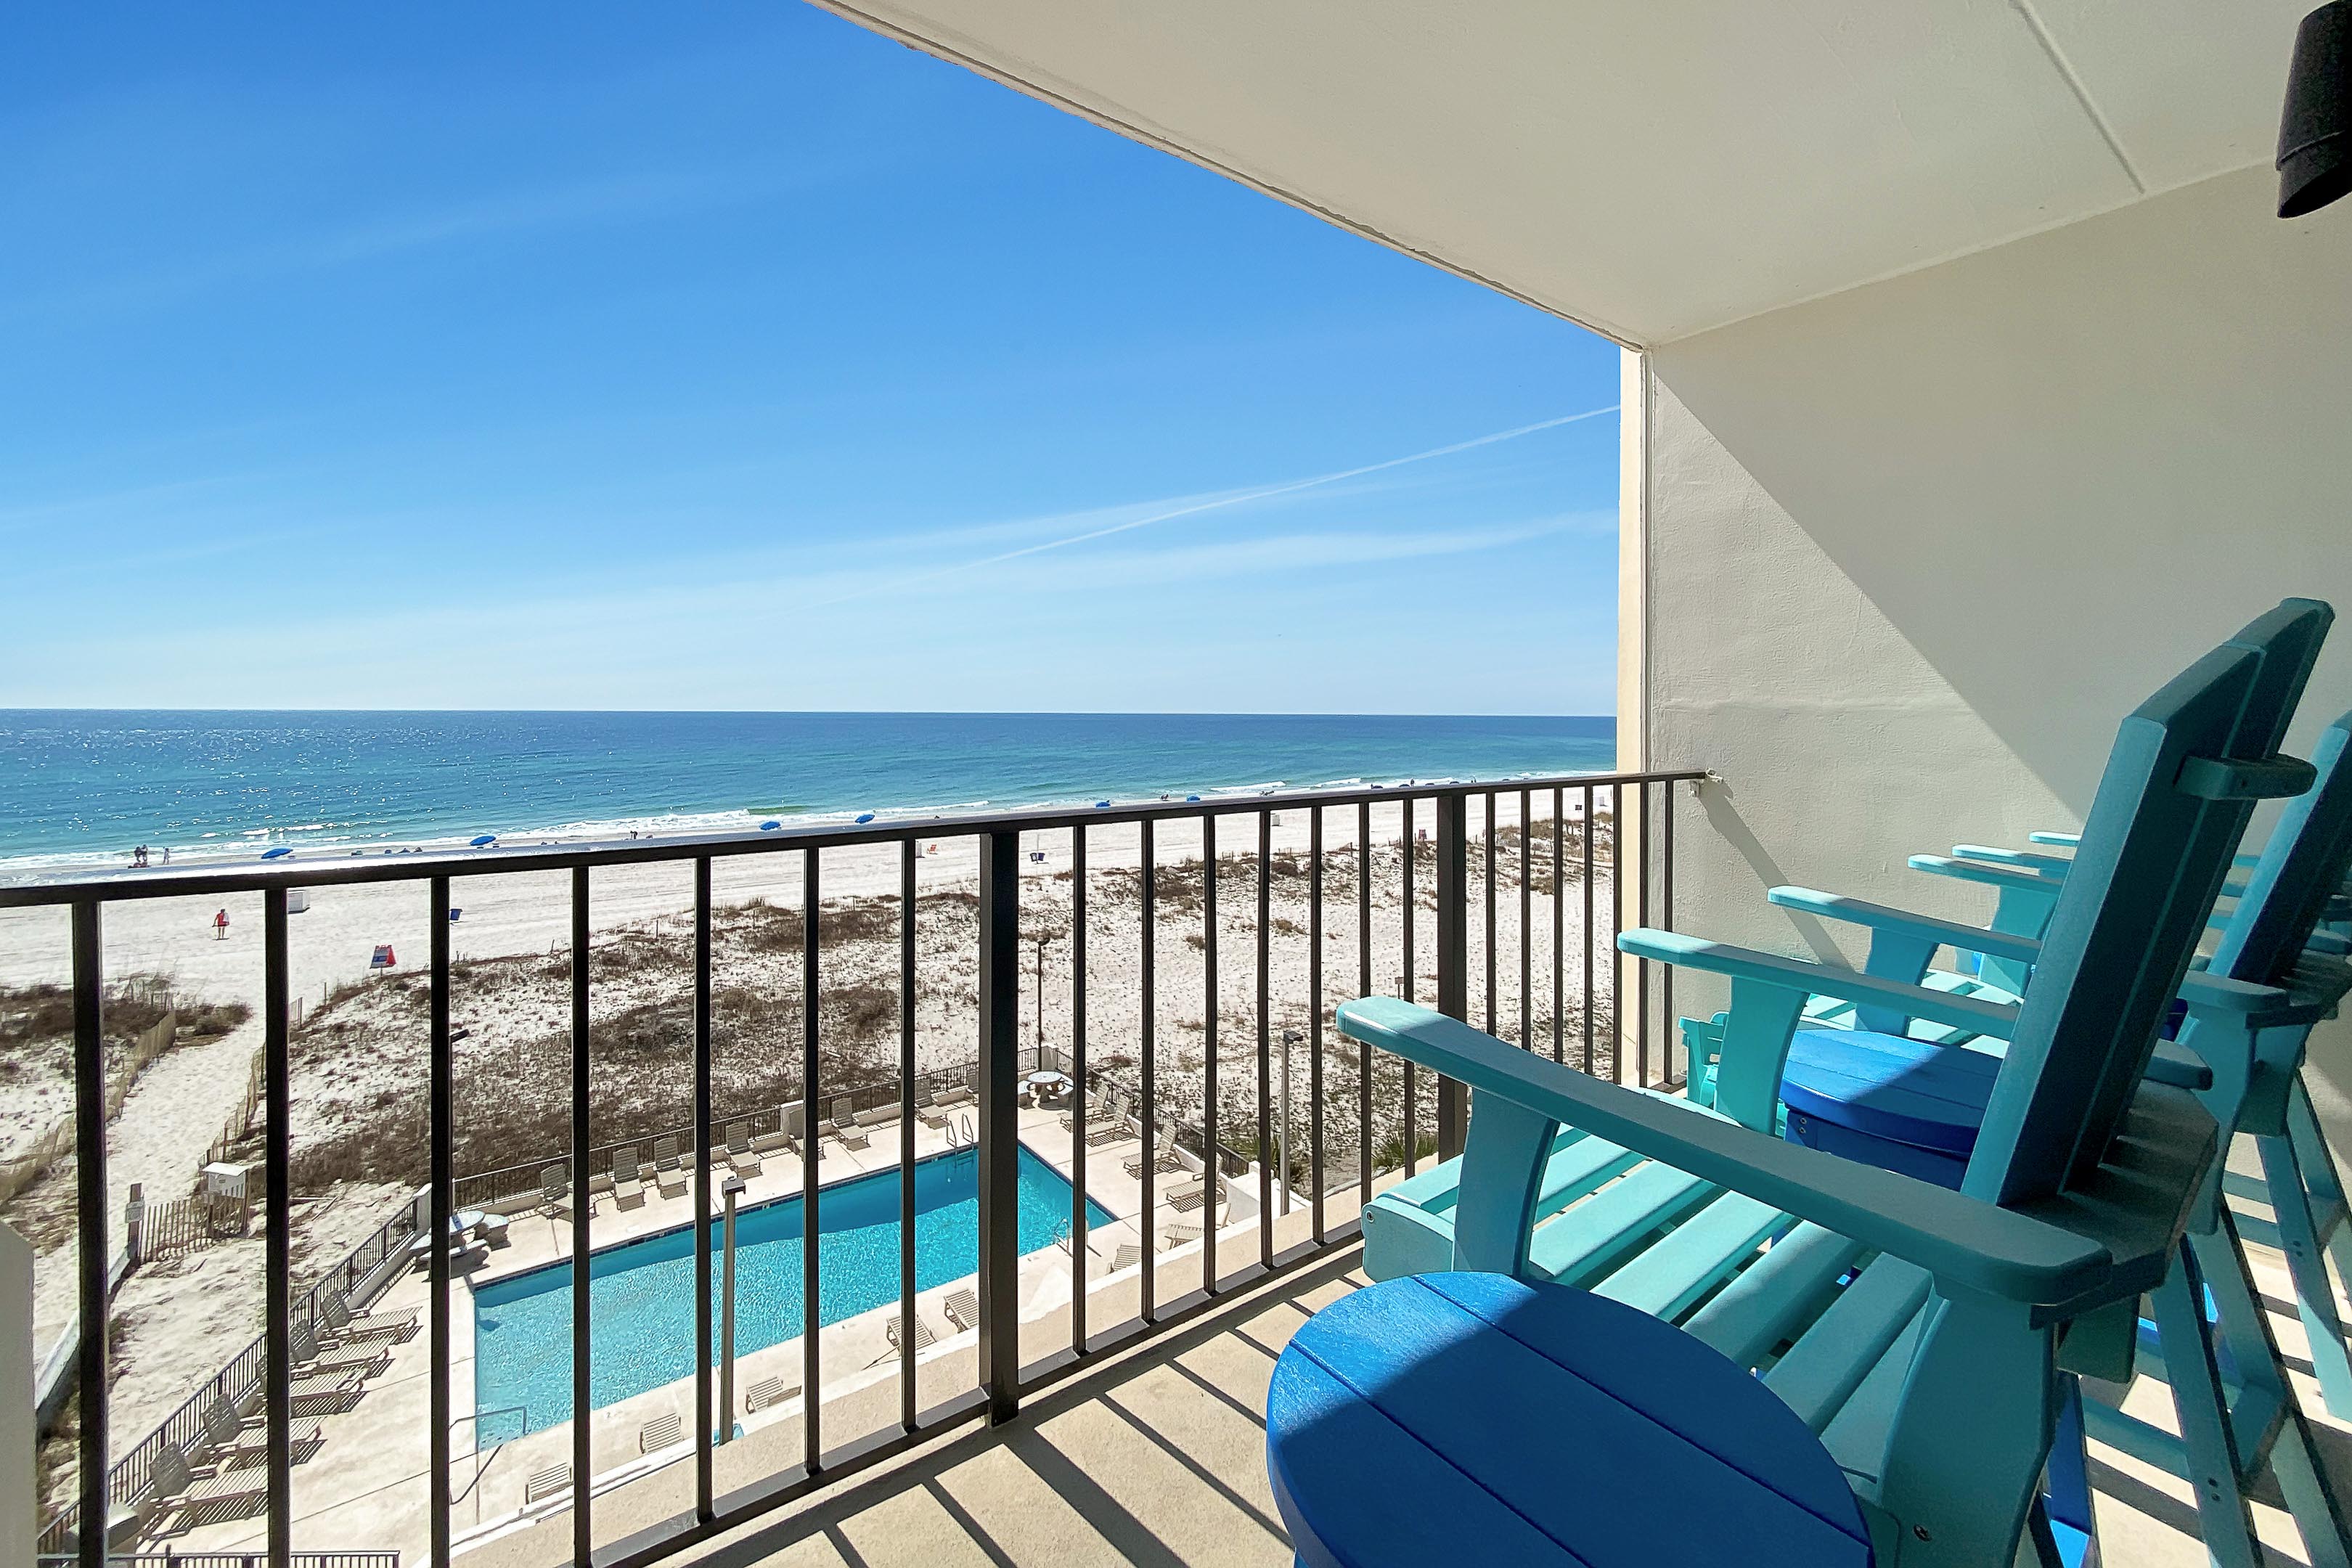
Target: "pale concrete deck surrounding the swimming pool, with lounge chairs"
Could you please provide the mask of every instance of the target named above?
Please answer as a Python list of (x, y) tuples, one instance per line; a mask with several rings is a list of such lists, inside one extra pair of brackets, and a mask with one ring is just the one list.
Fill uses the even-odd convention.
[[(1073, 1135), (1061, 1124), (1061, 1107), (1023, 1107), (1018, 1112), (1018, 1128), (1021, 1143), (1068, 1180), (1073, 1173)], [(821, 1143), (818, 1180), (823, 1185), (833, 1185), (870, 1175), (875, 1171), (894, 1171), (901, 1159), (898, 1124), (875, 1126), (868, 1131), (868, 1138), (870, 1143), (863, 1150), (849, 1150), (833, 1138), (826, 1138)], [(767, 1143), (776, 1140), (771, 1138)], [(950, 1128), (929, 1128), (917, 1121), (915, 1159), (943, 1154), (953, 1147), (957, 1145), (953, 1143)], [(1122, 1269), (1117, 1262), (1122, 1246), (1138, 1248), (1145, 1234), (1152, 1234), (1155, 1251), (1162, 1255), (1162, 1267), (1185, 1279), (1185, 1284), (1169, 1291), (1171, 1295), (1197, 1284), (1197, 1274), (1183, 1269), (1176, 1258), (1200, 1255), (1200, 1241), (1178, 1227), (1200, 1227), (1202, 1211), (1195, 1208), (1190, 1213), (1176, 1213), (1164, 1199), (1171, 1182), (1197, 1173), (1197, 1161), (1190, 1154), (1181, 1154), (1178, 1159), (1185, 1166), (1183, 1171), (1176, 1175), (1155, 1175), (1152, 1225), (1143, 1225), (1143, 1182), (1127, 1168), (1127, 1161), (1138, 1157), (1141, 1140), (1134, 1135), (1134, 1128), (1129, 1128), (1129, 1135), (1117, 1143), (1094, 1145), (1087, 1150), (1087, 1197), (1112, 1215), (1108, 1225), (1089, 1227), (1087, 1234), (1089, 1300), (1105, 1291), (1105, 1286), (1117, 1295), (1131, 1293), (1134, 1279), (1141, 1274), (1141, 1265), (1129, 1262)], [(724, 1164), (717, 1166), (717, 1173), (724, 1171)], [(800, 1159), (781, 1147), (767, 1150), (760, 1157), (757, 1173), (746, 1178), (746, 1192), (739, 1201), (746, 1206), (762, 1204), (793, 1197), (800, 1187)], [(593, 1251), (604, 1251), (609, 1246), (621, 1246), (626, 1241), (694, 1222), (691, 1168), (687, 1190), (680, 1197), (663, 1197), (659, 1185), (647, 1182), (642, 1201), (628, 1208), (621, 1208), (612, 1192), (595, 1192), (593, 1199)], [(1352, 1204), (1348, 1208), (1352, 1213)], [(534, 1474), (569, 1465), (569, 1422), (560, 1422), (546, 1432), (534, 1432), (508, 1443), (496, 1443), (482, 1453), (475, 1450), (473, 1441), (473, 1286), (489, 1284), (494, 1279), (510, 1279), (572, 1255), (569, 1218), (557, 1220), (543, 1208), (517, 1211), (508, 1218), (510, 1225), (506, 1244), (489, 1251), (487, 1258), (468, 1272), (468, 1276), (452, 1281), (449, 1394), (456, 1415), (456, 1429), (452, 1434), (452, 1458), (456, 1469), (452, 1479), (452, 1530), (459, 1549), (485, 1544), (517, 1530), (527, 1533), (536, 1521), (567, 1512), (569, 1507), (569, 1490), (541, 1497), (536, 1505), (524, 1505), (524, 1486)], [(1218, 1225), (1221, 1248), (1230, 1246), (1228, 1237), (1254, 1229), (1256, 1178), (1228, 1178)], [(1230, 1255), (1237, 1260), (1240, 1251)], [(1127, 1291), (1120, 1291), (1120, 1286), (1127, 1286)], [(917, 1356), (920, 1408), (969, 1387), (969, 1378), (950, 1380), (948, 1371), (938, 1366), (941, 1361), (969, 1359), (978, 1338), (976, 1331), (957, 1331), (946, 1312), (946, 1298), (955, 1291), (969, 1288), (974, 1288), (974, 1281), (971, 1276), (964, 1276), (960, 1281), (922, 1291), (915, 1298), (915, 1316), (934, 1335), (934, 1342)], [(1035, 1319), (1065, 1321), (1073, 1295), (1070, 1253), (1061, 1246), (1047, 1246), (1023, 1258), (1018, 1293), (1023, 1324)], [(296, 1415), (296, 1432), (303, 1432), (310, 1425), (318, 1425), (325, 1432), (325, 1441), (315, 1446), (315, 1453), (294, 1467), (296, 1549), (397, 1549), (409, 1561), (421, 1561), (426, 1556), (430, 1345), (423, 1333), (423, 1314), (428, 1300), (430, 1281), (421, 1272), (400, 1276), (372, 1309), (383, 1314), (414, 1312), (419, 1316), (416, 1331), (407, 1340), (390, 1347), (388, 1363), (362, 1385), (360, 1396), (348, 1410), (332, 1415)], [(894, 1319), (896, 1312), (898, 1307), (891, 1302), (840, 1324), (828, 1324), (818, 1331), (828, 1446), (866, 1429), (863, 1425), (837, 1425), (833, 1408), (837, 1401), (847, 1401), (844, 1408), (856, 1406), (858, 1410), (884, 1410), (884, 1415), (873, 1418), (875, 1422), (896, 1418), (898, 1354), (889, 1345), (889, 1319)], [(1115, 1316), (1127, 1316), (1127, 1309), (1120, 1309)], [(1096, 1321), (1108, 1324), (1115, 1319), (1096, 1316)], [(1063, 1340), (1068, 1338), (1065, 1326), (1058, 1333)], [(1037, 1342), (1047, 1345), (1049, 1340), (1040, 1338)], [(746, 1401), (750, 1387), (767, 1378), (781, 1380), (786, 1396), (760, 1410), (748, 1410)], [(891, 1385), (887, 1392), (875, 1387), (884, 1382)], [(746, 1436), (781, 1422), (790, 1422), (797, 1429), (802, 1420), (800, 1385), (800, 1338), (741, 1354), (736, 1359), (734, 1375), (734, 1413)], [(684, 1429), (682, 1441), (654, 1453), (642, 1453), (640, 1443), (644, 1441), (647, 1425), (663, 1415), (680, 1418)], [(858, 1415), (856, 1420), (863, 1422), (866, 1418)], [(597, 1490), (607, 1493), (628, 1488), (630, 1483), (689, 1458), (691, 1427), (691, 1378), (593, 1410), (590, 1453)], [(146, 1549), (254, 1552), (266, 1544), (263, 1519), (259, 1512), (230, 1519), (207, 1516), (195, 1523), (167, 1516), (160, 1523), (165, 1523), (169, 1533), (155, 1537)]]

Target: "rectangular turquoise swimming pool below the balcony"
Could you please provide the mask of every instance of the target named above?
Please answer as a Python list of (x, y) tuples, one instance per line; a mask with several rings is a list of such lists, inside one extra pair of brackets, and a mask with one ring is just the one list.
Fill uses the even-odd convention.
[[(981, 1267), (981, 1157), (915, 1161), (915, 1288)], [(1070, 1229), (1070, 1182), (1021, 1150), (1021, 1255)], [(898, 1171), (826, 1185), (816, 1201), (818, 1321), (898, 1300)], [(1110, 1225), (1087, 1201), (1087, 1225)], [(720, 1248), (710, 1222), (710, 1251)], [(800, 1333), (800, 1194), (736, 1211), (736, 1356)], [(713, 1258), (713, 1354), (717, 1258)], [(480, 1441), (503, 1443), (572, 1418), (572, 1265), (550, 1262), (473, 1293)], [(715, 1363), (715, 1361), (713, 1361)], [(588, 1396), (595, 1408), (694, 1375), (694, 1225), (588, 1258)]]

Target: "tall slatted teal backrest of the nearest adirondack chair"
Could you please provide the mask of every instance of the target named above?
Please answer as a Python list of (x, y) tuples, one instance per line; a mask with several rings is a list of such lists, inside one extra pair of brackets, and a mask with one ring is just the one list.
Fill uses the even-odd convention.
[(2326, 604), (2286, 599), (2124, 719), (1985, 1107), (1966, 1194), (2053, 1197), (2105, 1159), (2253, 802), (2310, 785), (2310, 769), (2277, 748), (2331, 621)]

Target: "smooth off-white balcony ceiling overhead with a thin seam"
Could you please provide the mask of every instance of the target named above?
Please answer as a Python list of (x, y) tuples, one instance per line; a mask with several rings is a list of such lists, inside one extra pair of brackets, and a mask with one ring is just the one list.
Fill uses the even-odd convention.
[(2312, 2), (830, 9), (1651, 346), (2270, 162)]

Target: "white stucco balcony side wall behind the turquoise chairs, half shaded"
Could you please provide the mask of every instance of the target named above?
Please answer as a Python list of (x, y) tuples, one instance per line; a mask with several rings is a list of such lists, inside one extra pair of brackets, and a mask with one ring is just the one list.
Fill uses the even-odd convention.
[[(1985, 914), (1903, 858), (2077, 825), (2122, 715), (2286, 595), (2347, 618), (2296, 738), (2352, 708), (2352, 205), (2272, 205), (2227, 174), (1649, 355), (1644, 752), (1724, 773), (1679, 926), (1825, 952), (1773, 882)], [(2352, 1032), (2319, 1060), (2352, 1145)]]

